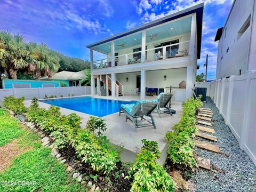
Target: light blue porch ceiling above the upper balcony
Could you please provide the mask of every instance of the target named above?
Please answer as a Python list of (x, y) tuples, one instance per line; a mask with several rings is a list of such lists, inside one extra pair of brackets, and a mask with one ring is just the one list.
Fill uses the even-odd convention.
[[(159, 27), (151, 28), (146, 30), (146, 43), (161, 41), (161, 39), (171, 38), (174, 36), (189, 33), (191, 29), (191, 17), (187, 17), (178, 21), (168, 22), (165, 25)], [(156, 34), (152, 40), (148, 36)], [(124, 47), (118, 46), (118, 44), (124, 44)], [(141, 33), (136, 33), (133, 35), (125, 36), (119, 38), (115, 41), (115, 51), (126, 49), (128, 47), (135, 47), (141, 45)], [(111, 52), (111, 43), (101, 44), (99, 46), (93, 47), (93, 50), (99, 51), (101, 53)]]

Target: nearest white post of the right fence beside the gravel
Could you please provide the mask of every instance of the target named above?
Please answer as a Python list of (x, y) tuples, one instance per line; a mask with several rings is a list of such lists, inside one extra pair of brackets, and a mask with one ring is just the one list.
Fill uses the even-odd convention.
[(246, 89), (245, 89), (245, 106), (244, 106), (244, 117), (243, 117), (243, 127), (242, 127), (242, 133), (241, 133), (241, 142), (239, 143), (240, 148), (241, 149), (245, 149), (245, 141), (246, 141), (246, 136), (247, 136), (247, 129), (249, 126), (249, 121), (250, 121), (250, 115), (249, 115), (249, 101), (250, 101), (250, 97), (252, 97), (252, 95), (250, 95), (250, 85), (251, 85), (251, 76), (252, 73), (251, 72), (247, 72), (246, 75)]

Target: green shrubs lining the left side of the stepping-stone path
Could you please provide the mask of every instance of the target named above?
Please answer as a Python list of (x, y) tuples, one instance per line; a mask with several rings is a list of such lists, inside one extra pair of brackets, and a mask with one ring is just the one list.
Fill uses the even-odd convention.
[(173, 164), (190, 168), (196, 165), (194, 158), (195, 143), (192, 138), (194, 138), (197, 133), (195, 113), (196, 110), (203, 105), (201, 97), (202, 96), (199, 96), (196, 99), (191, 97), (186, 102), (182, 103), (183, 114), (180, 122), (173, 126), (174, 132), (170, 131), (165, 134), (165, 139), (169, 143), (167, 154)]

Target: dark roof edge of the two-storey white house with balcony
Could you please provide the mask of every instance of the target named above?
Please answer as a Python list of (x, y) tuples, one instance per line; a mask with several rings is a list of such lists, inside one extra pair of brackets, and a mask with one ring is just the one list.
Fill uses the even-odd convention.
[(145, 25), (139, 26), (139, 27), (135, 27), (133, 29), (130, 30), (126, 30), (123, 33), (117, 34), (117, 35), (113, 35), (110, 36), (108, 38), (102, 39), (98, 42), (86, 45), (87, 48), (91, 48), (103, 43), (107, 43), (110, 41), (114, 41), (115, 39), (133, 34), (133, 33), (137, 33), (138, 31), (141, 30), (145, 30), (148, 29), (150, 27), (154, 27), (157, 25), (160, 25), (162, 23), (165, 22), (169, 22), (172, 21), (174, 19), (178, 19), (181, 17), (185, 17), (186, 15), (192, 14), (192, 13), (196, 13), (196, 27), (197, 27), (197, 58), (200, 59), (200, 55), (201, 55), (201, 42), (202, 42), (202, 23), (203, 23), (203, 9), (204, 9), (204, 3), (189, 7), (188, 9), (173, 13), (171, 15), (167, 15), (166, 17), (163, 17), (161, 19), (157, 19), (155, 21), (152, 22), (148, 22)]

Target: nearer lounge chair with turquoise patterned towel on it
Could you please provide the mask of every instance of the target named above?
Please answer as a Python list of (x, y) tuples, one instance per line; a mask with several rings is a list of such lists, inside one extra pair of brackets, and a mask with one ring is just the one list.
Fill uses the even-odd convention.
[[(119, 116), (121, 113), (124, 113), (126, 115), (125, 122), (127, 122), (127, 119), (130, 119), (133, 122), (135, 132), (140, 127), (153, 126), (156, 129), (151, 113), (156, 109), (157, 105), (158, 103), (156, 101), (148, 100), (137, 101), (135, 104), (122, 104), (119, 109)], [(146, 119), (144, 116), (150, 117), (150, 119)], [(141, 118), (141, 120), (138, 120), (138, 118)], [(139, 124), (140, 122), (147, 123)]]

